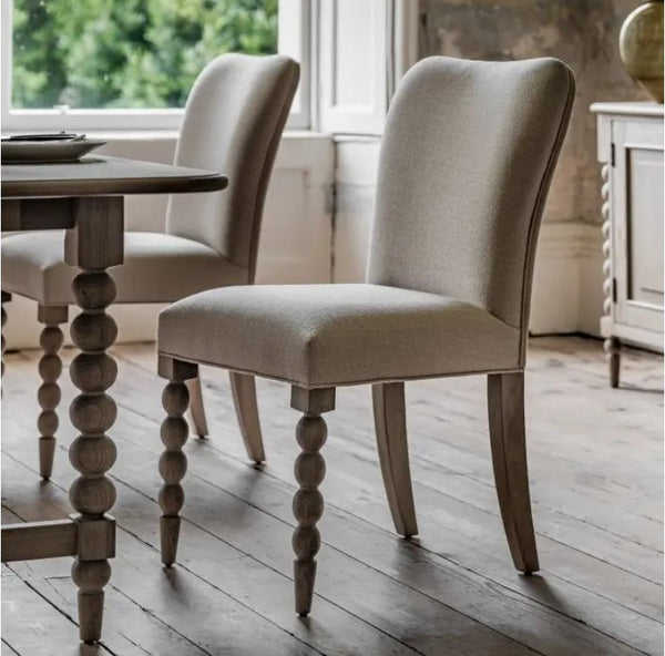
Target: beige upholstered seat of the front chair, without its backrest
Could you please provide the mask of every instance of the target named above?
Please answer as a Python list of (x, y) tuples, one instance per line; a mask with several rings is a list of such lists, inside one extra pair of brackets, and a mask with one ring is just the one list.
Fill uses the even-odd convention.
[(203, 291), (162, 310), (158, 351), (316, 388), (516, 369), (520, 331), (423, 291), (256, 285)]

